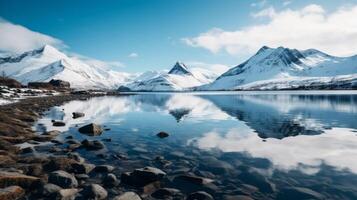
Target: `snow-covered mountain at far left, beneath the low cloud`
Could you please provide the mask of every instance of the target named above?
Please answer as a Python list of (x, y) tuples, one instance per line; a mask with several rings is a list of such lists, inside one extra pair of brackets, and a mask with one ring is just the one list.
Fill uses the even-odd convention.
[(0, 57), (0, 72), (22, 84), (61, 79), (73, 88), (117, 88), (132, 79), (132, 75), (104, 69), (76, 57), (68, 57), (56, 48), (43, 48), (20, 55)]

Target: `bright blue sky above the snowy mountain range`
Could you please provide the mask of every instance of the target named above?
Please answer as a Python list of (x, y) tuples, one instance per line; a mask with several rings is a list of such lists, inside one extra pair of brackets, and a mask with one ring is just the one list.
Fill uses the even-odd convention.
[[(237, 31), (269, 24), (283, 11), (302, 13), (309, 5), (324, 9), (322, 13), (315, 7), (312, 14), (328, 17), (339, 7), (348, 10), (356, 4), (355, 0), (0, 0), (0, 17), (60, 40), (67, 46), (65, 51), (119, 61), (124, 65), (120, 71), (142, 72), (169, 68), (176, 60), (201, 66), (237, 65), (252, 55), (257, 46), (265, 45), (262, 40), (246, 47), (243, 40), (250, 40)], [(331, 23), (326, 22), (329, 27)], [(215, 28), (219, 33), (212, 32)], [(230, 38), (230, 33), (234, 37)], [(215, 37), (213, 46), (211, 38), (206, 41), (207, 38), (200, 37), (202, 34)], [(284, 41), (267, 39), (270, 46), (290, 45)], [(320, 43), (312, 48), (320, 47)], [(291, 44), (292, 48), (295, 46), (307, 48)], [(330, 47), (325, 46), (321, 48), (329, 51)], [(339, 52), (351, 54), (341, 49)]]

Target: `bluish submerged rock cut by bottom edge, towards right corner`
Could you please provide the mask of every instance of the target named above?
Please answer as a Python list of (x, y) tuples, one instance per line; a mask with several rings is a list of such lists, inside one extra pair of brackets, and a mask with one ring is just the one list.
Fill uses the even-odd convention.
[(279, 200), (324, 199), (324, 196), (308, 188), (287, 187), (279, 191), (277, 199)]

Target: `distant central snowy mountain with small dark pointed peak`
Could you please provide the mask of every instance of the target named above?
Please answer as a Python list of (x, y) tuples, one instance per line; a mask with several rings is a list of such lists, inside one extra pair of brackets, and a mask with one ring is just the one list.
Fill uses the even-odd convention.
[(181, 91), (211, 82), (211, 74), (190, 71), (182, 62), (176, 62), (169, 72), (147, 72), (126, 85), (133, 91)]

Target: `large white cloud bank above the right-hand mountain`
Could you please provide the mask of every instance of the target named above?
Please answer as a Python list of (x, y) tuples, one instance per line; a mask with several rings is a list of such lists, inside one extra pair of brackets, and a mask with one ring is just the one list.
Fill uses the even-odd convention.
[(261, 46), (286, 46), (297, 49), (316, 48), (339, 56), (357, 53), (357, 5), (340, 7), (326, 13), (311, 4), (299, 10), (276, 11), (267, 8), (253, 14), (268, 21), (236, 31), (213, 28), (197, 37), (184, 38), (193, 47), (231, 55), (251, 55)]

